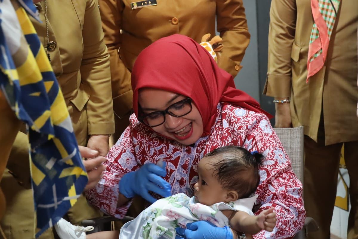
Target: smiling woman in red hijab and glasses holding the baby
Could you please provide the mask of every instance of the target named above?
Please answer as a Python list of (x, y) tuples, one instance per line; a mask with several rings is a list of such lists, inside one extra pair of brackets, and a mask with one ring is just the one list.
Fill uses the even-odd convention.
[[(235, 89), (232, 76), (202, 46), (182, 35), (151, 44), (133, 67), (132, 89), (135, 114), (108, 153), (102, 179), (86, 193), (93, 205), (122, 218), (135, 195), (149, 202), (181, 192), (191, 197), (200, 158), (238, 145), (265, 156), (255, 214), (272, 206), (277, 215), (274, 231), (254, 238), (291, 238), (302, 228), (302, 185), (267, 113)], [(232, 231), (221, 230), (199, 221), (187, 232), (196, 239), (233, 238)]]

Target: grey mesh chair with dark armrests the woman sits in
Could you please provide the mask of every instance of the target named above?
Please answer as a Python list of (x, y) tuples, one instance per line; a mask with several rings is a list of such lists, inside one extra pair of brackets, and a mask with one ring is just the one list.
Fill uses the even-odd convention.
[[(292, 169), (296, 177), (303, 182), (303, 127), (296, 128), (274, 128), (279, 137), (286, 153), (291, 159)], [(125, 216), (122, 220), (124, 222), (133, 220), (129, 216)], [(103, 216), (102, 218), (95, 218), (82, 221), (83, 226), (94, 226), (97, 232), (102, 231), (105, 226), (111, 221), (118, 220), (112, 216)], [(294, 237), (294, 239), (305, 239), (309, 231), (317, 231), (318, 226), (312, 218), (306, 218), (305, 225)]]

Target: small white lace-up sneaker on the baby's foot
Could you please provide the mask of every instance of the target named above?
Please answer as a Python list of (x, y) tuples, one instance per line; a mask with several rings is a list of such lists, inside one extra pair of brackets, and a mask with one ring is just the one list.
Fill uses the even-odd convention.
[(61, 218), (56, 224), (57, 235), (61, 239), (86, 239), (86, 231), (92, 231), (93, 226), (75, 226)]

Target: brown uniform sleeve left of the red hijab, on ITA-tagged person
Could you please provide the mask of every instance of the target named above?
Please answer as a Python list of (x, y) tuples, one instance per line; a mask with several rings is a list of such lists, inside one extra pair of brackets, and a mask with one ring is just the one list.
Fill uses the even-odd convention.
[(118, 49), (121, 47), (122, 11), (121, 0), (99, 0), (105, 43), (110, 54), (113, 110), (122, 117), (132, 109), (131, 72), (122, 62)]

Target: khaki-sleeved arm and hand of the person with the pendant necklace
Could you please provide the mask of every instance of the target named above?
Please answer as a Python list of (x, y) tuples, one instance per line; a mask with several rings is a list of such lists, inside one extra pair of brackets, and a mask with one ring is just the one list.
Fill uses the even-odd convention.
[(114, 133), (111, 74), (107, 47), (103, 41), (100, 11), (96, 0), (88, 0), (83, 24), (83, 57), (81, 81), (89, 85), (87, 126), (90, 135), (87, 147), (106, 156), (109, 134)]

